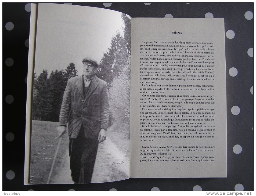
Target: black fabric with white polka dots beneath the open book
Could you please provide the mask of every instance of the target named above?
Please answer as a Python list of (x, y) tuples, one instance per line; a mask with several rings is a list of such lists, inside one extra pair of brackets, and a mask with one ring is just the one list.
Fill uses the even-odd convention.
[[(31, 3), (3, 3), (3, 190), (253, 190), (253, 3), (65, 3), (132, 17), (224, 18), (227, 178), (128, 179), (99, 184), (24, 185)], [(223, 84), (225, 85), (225, 84)]]

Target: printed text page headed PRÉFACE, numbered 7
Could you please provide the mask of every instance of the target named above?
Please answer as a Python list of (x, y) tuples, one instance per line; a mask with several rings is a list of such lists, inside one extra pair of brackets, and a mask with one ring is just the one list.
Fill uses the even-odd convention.
[(132, 18), (131, 177), (227, 177), (224, 19)]

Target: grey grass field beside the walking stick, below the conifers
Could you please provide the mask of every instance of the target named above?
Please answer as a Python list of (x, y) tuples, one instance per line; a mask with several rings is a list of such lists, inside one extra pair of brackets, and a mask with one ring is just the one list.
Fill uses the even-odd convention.
[[(56, 127), (58, 122), (32, 121), (30, 183), (45, 184), (47, 182), (53, 157), (59, 141)], [(68, 148), (68, 136), (63, 136), (56, 158), (52, 176), (59, 169), (64, 152)]]

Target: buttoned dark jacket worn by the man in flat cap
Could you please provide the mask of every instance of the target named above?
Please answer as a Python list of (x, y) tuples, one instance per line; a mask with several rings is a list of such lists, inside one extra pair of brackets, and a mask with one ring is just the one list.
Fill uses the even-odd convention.
[(63, 95), (59, 124), (68, 122), (68, 135), (77, 138), (81, 125), (85, 137), (98, 138), (100, 129), (109, 123), (109, 97), (107, 83), (96, 75), (84, 96), (83, 77), (70, 78)]

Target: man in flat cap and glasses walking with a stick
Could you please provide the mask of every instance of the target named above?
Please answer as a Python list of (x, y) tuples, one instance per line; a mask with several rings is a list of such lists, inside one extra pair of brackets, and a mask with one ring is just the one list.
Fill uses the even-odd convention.
[(109, 122), (107, 83), (95, 73), (99, 64), (84, 58), (83, 75), (70, 78), (60, 109), (59, 136), (68, 123), (71, 177), (74, 183), (90, 183), (98, 144), (106, 139)]

